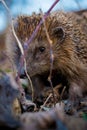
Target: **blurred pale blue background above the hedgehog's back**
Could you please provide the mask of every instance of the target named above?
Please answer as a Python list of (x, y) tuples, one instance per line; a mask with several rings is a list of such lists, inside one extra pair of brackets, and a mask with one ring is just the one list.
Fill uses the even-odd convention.
[[(8, 12), (0, 0), (0, 33), (2, 33), (9, 22)], [(4, 0), (11, 11), (12, 17), (32, 12), (38, 13), (41, 9), (46, 12), (55, 0)], [(87, 9), (87, 0), (60, 0), (54, 10), (76, 11)]]

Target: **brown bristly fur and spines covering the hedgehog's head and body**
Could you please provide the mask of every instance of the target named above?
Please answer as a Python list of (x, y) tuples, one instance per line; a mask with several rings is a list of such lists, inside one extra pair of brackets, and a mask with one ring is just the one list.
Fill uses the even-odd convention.
[[(15, 20), (15, 31), (22, 45), (32, 35), (41, 18), (41, 14), (33, 14), (20, 16)], [(53, 70), (60, 71), (67, 78), (71, 88), (76, 84), (75, 86), (78, 86), (81, 91), (87, 91), (86, 22), (87, 19), (83, 19), (82, 15), (61, 11), (51, 13), (46, 19), (46, 27), (53, 41)], [(63, 38), (62, 42), (61, 38)], [(18, 67), (20, 51), (11, 29), (7, 34), (6, 42), (8, 54)], [(44, 47), (45, 51), (41, 52), (41, 47)], [(50, 69), (50, 50), (43, 24), (29, 45), (26, 62), (31, 77), (48, 72)]]

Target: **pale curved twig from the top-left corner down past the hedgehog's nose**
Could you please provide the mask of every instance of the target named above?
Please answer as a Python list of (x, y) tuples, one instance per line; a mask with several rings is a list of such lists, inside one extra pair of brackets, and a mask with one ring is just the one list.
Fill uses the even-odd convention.
[[(26, 75), (27, 75), (27, 78), (28, 80), (30, 81), (30, 85), (31, 85), (31, 88), (32, 88), (32, 95), (33, 95), (33, 86), (32, 86), (32, 82), (31, 82), (31, 79), (30, 79), (30, 76), (28, 75), (27, 73), (27, 69), (26, 69), (26, 60), (25, 60), (25, 55), (24, 55), (24, 49), (22, 47), (22, 44), (20, 42), (20, 40), (18, 39), (16, 33), (15, 33), (15, 30), (14, 30), (14, 25), (13, 25), (13, 18), (12, 18), (12, 15), (10, 13), (10, 10), (8, 8), (8, 6), (6, 5), (5, 1), (4, 0), (1, 0), (2, 4), (5, 6), (5, 8), (7, 9), (8, 13), (9, 13), (9, 16), (10, 16), (10, 19), (11, 19), (11, 27), (12, 27), (12, 32), (13, 32), (13, 35), (17, 41), (17, 44), (18, 44), (18, 47), (20, 49), (20, 52), (21, 52), (21, 62), (20, 62), (20, 68), (18, 70), (18, 74), (17, 74), (17, 77), (16, 77), (16, 81), (18, 82), (19, 86), (20, 86), (20, 91), (21, 91), (21, 94), (22, 94), (22, 97), (25, 99), (25, 92), (22, 88), (22, 85), (19, 83), (19, 75), (20, 75), (20, 71), (21, 71), (21, 68), (23, 67), (24, 65), (24, 69), (25, 69), (25, 72), (26, 72)], [(32, 97), (33, 98), (33, 97)], [(21, 101), (22, 102), (22, 101)]]

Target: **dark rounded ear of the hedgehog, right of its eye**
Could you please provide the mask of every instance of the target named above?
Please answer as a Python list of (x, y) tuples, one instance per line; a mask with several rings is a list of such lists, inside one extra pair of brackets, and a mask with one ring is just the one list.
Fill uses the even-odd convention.
[(65, 31), (62, 27), (56, 27), (53, 29), (53, 36), (57, 38), (58, 42), (62, 42), (65, 39)]

